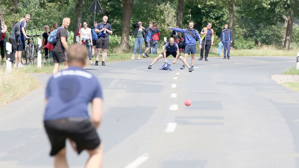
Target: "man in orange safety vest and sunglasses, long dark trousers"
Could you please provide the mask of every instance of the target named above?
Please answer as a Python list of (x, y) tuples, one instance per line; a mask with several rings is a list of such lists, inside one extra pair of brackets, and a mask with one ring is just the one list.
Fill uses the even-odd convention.
[(208, 23), (207, 27), (204, 27), (203, 30), (200, 32), (200, 35), (204, 35), (202, 36), (202, 47), (200, 50), (200, 58), (198, 60), (203, 60), (203, 52), (205, 50), (205, 54), (204, 54), (204, 60), (208, 61), (208, 55), (209, 55), (209, 51), (211, 46), (214, 43), (214, 30), (211, 29), (212, 27), (212, 23)]

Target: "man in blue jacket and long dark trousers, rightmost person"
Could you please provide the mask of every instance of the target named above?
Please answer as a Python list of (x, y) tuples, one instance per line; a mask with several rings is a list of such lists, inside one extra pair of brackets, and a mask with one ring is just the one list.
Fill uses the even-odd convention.
[[(233, 41), (231, 38), (231, 30), (228, 29), (228, 24), (224, 25), (224, 29), (221, 31), (221, 34), (220, 34), (220, 40), (221, 40), (221, 43), (223, 43), (223, 54), (224, 54), (223, 59), (226, 59), (226, 55), (227, 55), (227, 59), (229, 59), (229, 57), (230, 57), (229, 52), (231, 50), (231, 43)], [(226, 54), (226, 50), (227, 50), (227, 54)]]

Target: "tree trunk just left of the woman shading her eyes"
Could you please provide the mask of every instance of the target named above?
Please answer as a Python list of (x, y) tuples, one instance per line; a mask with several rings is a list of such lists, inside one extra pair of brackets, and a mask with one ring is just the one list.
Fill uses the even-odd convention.
[(129, 50), (130, 25), (134, 0), (123, 0), (123, 24), (121, 27), (120, 48)]

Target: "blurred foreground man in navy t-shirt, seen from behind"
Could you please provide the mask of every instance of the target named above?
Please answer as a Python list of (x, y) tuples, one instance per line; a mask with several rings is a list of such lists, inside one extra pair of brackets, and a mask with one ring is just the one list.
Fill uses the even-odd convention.
[[(85, 149), (89, 153), (86, 168), (99, 168), (103, 150), (96, 128), (102, 116), (101, 85), (94, 75), (83, 69), (88, 56), (85, 46), (72, 44), (67, 54), (69, 67), (53, 74), (46, 89), (44, 127), (52, 147), (50, 156), (54, 156), (55, 168), (68, 167), (65, 142), (69, 139), (78, 154)], [(92, 103), (91, 117), (89, 102)]]

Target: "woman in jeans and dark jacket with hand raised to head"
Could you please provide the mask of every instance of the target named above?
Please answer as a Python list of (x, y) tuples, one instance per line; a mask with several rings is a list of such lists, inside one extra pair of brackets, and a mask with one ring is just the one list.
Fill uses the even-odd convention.
[(142, 27), (142, 22), (141, 21), (139, 21), (138, 23), (133, 23), (132, 26), (135, 28), (135, 30), (133, 31), (133, 35), (135, 36), (135, 43), (134, 43), (133, 56), (132, 56), (131, 59), (134, 59), (134, 56), (135, 56), (136, 51), (137, 51), (137, 47), (139, 45), (138, 59), (140, 60), (142, 44), (143, 44), (143, 41), (144, 41), (144, 30), (145, 30), (145, 28)]

